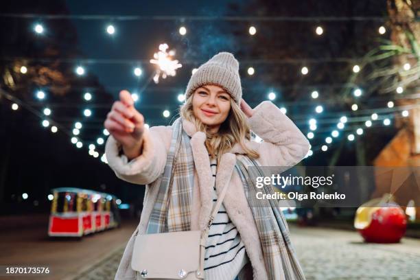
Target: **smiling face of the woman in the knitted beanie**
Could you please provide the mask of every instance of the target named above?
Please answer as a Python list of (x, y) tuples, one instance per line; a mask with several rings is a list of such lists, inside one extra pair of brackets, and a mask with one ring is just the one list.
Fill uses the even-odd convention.
[(231, 95), (220, 86), (205, 84), (194, 91), (192, 104), (194, 115), (215, 133), (229, 115)]

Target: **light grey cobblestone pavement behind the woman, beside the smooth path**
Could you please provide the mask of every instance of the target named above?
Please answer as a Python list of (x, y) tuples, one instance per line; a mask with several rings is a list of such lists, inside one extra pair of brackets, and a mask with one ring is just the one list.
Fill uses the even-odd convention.
[[(307, 280), (420, 279), (420, 240), (366, 244), (352, 231), (290, 225), (290, 232)], [(123, 250), (116, 250), (75, 279), (114, 279)]]

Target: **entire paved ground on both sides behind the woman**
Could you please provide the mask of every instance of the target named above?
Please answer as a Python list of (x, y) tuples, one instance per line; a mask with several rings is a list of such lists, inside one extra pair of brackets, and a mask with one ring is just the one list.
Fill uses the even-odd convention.
[[(37, 278), (43, 280), (114, 279), (124, 246), (136, 225), (136, 221), (124, 223), (120, 229), (80, 241), (50, 240), (44, 226), (0, 231), (0, 264), (49, 264), (53, 274)], [(365, 244), (353, 231), (292, 225), (290, 231), (308, 280), (420, 279), (420, 240)]]

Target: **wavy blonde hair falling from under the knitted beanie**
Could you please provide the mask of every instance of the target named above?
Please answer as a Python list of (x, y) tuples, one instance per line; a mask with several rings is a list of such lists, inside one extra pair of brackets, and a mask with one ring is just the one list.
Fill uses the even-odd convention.
[(194, 115), (192, 100), (194, 93), (191, 94), (188, 99), (180, 107), (180, 115), (183, 119), (191, 121), (196, 126), (197, 131), (205, 132), (206, 141), (205, 145), (211, 158), (214, 159), (217, 156), (218, 162), (222, 154), (229, 151), (235, 143), (239, 143), (244, 149), (247, 156), (253, 159), (259, 158), (259, 153), (252, 150), (245, 145), (245, 139), (250, 140), (250, 128), (246, 123), (246, 116), (242, 112), (240, 106), (231, 98), (231, 110), (229, 115), (220, 125), (217, 133), (209, 133), (209, 129), (206, 124), (203, 124), (200, 119)]

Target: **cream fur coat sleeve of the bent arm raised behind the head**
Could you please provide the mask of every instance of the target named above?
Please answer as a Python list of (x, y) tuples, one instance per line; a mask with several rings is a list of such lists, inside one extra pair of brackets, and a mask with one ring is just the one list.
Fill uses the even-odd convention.
[(261, 165), (293, 166), (310, 149), (310, 143), (301, 130), (270, 101), (261, 102), (254, 108), (248, 124), (264, 140), (256, 145)]

